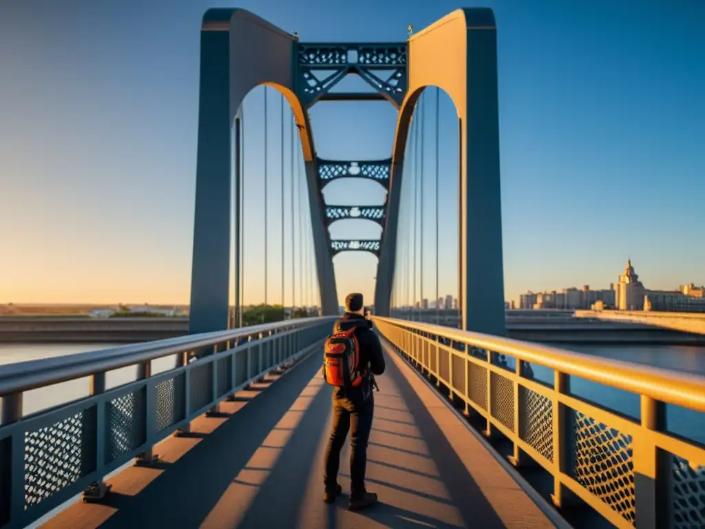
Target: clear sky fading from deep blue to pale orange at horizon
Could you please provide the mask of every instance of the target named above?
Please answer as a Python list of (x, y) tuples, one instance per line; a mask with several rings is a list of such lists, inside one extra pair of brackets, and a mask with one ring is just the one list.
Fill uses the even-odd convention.
[[(200, 19), (209, 7), (234, 5), (0, 2), (0, 303), (188, 303)], [(419, 30), (462, 6), (450, 0), (237, 5), (297, 30), (302, 42), (401, 41), (408, 24)], [(627, 257), (647, 287), (705, 283), (705, 3), (465, 4), (473, 5), (493, 7), (498, 25), (506, 297), (606, 287)], [(245, 103), (246, 303), (264, 297), (264, 223), (255, 206), (264, 160), (261, 92)], [(268, 293), (278, 302), (280, 107), (274, 92), (270, 97)], [(455, 118), (444, 98), (441, 233), (453, 245)], [(430, 104), (428, 111), (431, 123)], [(318, 153), (386, 157), (395, 118), (386, 103), (320, 104), (312, 109)], [(425, 152), (432, 171), (434, 151)], [(424, 185), (433, 185), (431, 179)], [(326, 200), (339, 204), (383, 198), (369, 182), (326, 188)], [(331, 234), (375, 236), (379, 228), (368, 224), (340, 222)], [(297, 236), (295, 243), (301, 245)], [(427, 243), (435, 245), (429, 236)], [(448, 283), (441, 295), (457, 290), (456, 255), (456, 248), (443, 250), (439, 275)], [(349, 290), (372, 296), (372, 255), (344, 253), (335, 264), (341, 296)]]

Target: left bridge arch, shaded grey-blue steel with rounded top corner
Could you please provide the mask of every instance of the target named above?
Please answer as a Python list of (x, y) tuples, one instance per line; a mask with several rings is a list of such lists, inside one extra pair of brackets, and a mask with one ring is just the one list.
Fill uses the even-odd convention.
[[(311, 123), (295, 93), (298, 37), (250, 11), (209, 9), (201, 25), (196, 200), (189, 332), (227, 327), (230, 267), (231, 129), (245, 96), (259, 85), (278, 90), (293, 111), (302, 145), (321, 310), (338, 313), (324, 205), (318, 192)], [(236, 142), (235, 149), (239, 145)], [(238, 193), (238, 188), (235, 188)], [(235, 202), (238, 202), (236, 196)], [(238, 215), (239, 212), (236, 212)], [(236, 228), (236, 255), (239, 233)], [(239, 283), (240, 274), (235, 274)], [(236, 289), (238, 287), (236, 286)], [(238, 303), (238, 300), (235, 300)]]

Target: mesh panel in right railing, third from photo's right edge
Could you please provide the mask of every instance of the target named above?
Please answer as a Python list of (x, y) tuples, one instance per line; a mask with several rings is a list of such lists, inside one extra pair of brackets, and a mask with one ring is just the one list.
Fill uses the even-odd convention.
[(553, 461), (553, 403), (532, 389), (519, 387), (519, 438)]

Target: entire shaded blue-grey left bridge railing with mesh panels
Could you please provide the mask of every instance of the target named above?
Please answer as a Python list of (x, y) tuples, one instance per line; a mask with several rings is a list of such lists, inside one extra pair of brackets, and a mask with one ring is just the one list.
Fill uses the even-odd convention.
[[(0, 367), (0, 527), (24, 527), (128, 463), (272, 368), (317, 346), (330, 317), (182, 336)], [(152, 375), (152, 360), (177, 367)], [(106, 372), (137, 366), (137, 380), (106, 389)], [(90, 377), (90, 396), (23, 416), (25, 391)]]

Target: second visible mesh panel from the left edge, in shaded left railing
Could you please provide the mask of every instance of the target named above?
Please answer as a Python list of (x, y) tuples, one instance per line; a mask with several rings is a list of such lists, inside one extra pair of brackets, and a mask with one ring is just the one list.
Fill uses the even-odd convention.
[(142, 387), (106, 405), (106, 463), (143, 444), (147, 433), (146, 388)]

